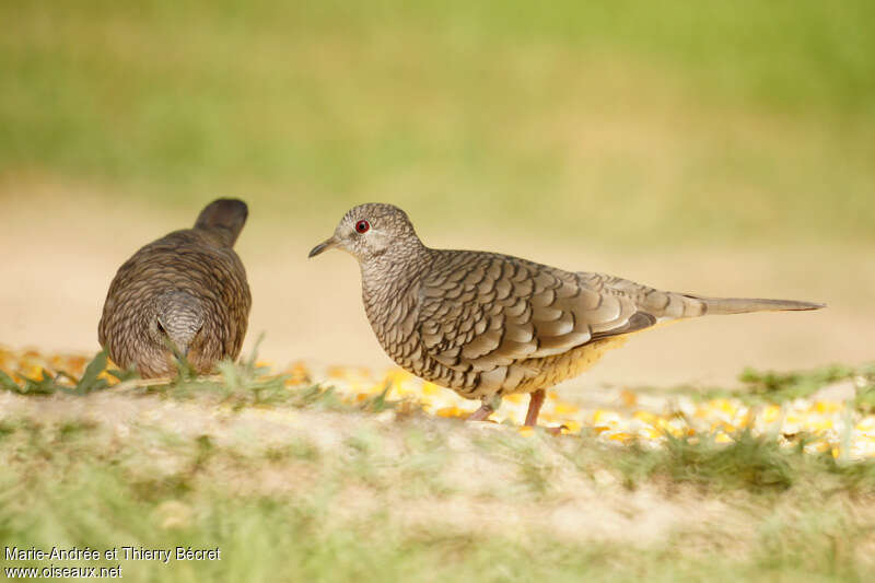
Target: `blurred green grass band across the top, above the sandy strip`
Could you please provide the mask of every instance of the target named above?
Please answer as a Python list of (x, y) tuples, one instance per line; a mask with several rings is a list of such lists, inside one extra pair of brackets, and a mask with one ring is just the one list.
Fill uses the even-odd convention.
[(0, 20), (7, 197), (875, 243), (868, 0), (5, 0)]

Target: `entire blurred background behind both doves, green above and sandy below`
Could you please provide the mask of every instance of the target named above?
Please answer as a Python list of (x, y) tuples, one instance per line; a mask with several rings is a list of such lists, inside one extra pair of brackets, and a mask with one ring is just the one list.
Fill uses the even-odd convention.
[[(873, 358), (875, 2), (0, 0), (0, 342), (96, 350), (140, 245), (245, 198), (252, 350), (390, 363), (364, 201), (428, 244), (825, 301), (629, 342), (581, 383)], [(698, 326), (698, 327), (697, 327)]]

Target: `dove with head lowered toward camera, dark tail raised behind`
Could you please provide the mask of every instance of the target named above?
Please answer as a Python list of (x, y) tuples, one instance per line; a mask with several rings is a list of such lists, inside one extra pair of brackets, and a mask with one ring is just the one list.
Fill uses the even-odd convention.
[(174, 351), (201, 374), (236, 359), (252, 305), (243, 263), (232, 248), (246, 205), (219, 199), (192, 229), (174, 231), (125, 261), (109, 285), (98, 339), (109, 358), (144, 377), (176, 374)]

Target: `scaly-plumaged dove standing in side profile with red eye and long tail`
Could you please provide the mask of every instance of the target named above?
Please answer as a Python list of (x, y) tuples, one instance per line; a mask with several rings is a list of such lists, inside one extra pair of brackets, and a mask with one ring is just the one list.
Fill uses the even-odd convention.
[(311, 256), (329, 247), (359, 259), (364, 308), (386, 353), (417, 376), (481, 399), (476, 419), (488, 417), (501, 395), (532, 393), (534, 424), (545, 388), (660, 323), (822, 307), (701, 298), (508, 255), (432, 249), (390, 205), (351, 209)]

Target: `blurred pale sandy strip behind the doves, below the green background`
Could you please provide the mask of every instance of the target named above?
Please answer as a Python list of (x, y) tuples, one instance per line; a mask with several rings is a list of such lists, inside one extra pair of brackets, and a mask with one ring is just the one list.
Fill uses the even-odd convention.
[[(188, 226), (199, 210), (171, 212), (66, 191), (5, 190), (0, 195), (5, 276), (0, 342), (40, 350), (98, 350), (97, 320), (115, 270), (142, 244)], [(253, 209), (237, 246), (254, 296), (244, 351), (265, 333), (259, 354), (278, 365), (299, 360), (317, 366), (390, 365), (365, 319), (354, 260), (337, 252), (306, 259), (343, 211), (338, 208), (336, 215), (316, 221), (320, 224), (299, 224)], [(702, 318), (641, 334), (569, 387), (732, 383), (747, 365), (786, 370), (875, 359), (875, 249), (660, 248), (632, 254), (611, 250), (608, 242), (578, 248), (553, 236), (548, 225), (535, 226), (528, 232), (446, 232), (421, 223), (419, 231), (433, 246), (501, 250), (663, 289), (829, 304), (820, 312)]]

